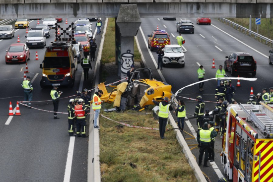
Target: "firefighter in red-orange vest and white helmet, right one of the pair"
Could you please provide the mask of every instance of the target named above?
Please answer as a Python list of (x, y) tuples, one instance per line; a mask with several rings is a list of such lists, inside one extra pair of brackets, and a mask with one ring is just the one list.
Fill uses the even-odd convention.
[[(74, 107), (76, 117), (76, 134), (77, 137), (86, 137), (85, 126), (86, 126), (86, 115), (87, 109), (83, 105), (83, 99), (78, 100), (78, 105)], [(81, 133), (81, 135), (80, 135)]]

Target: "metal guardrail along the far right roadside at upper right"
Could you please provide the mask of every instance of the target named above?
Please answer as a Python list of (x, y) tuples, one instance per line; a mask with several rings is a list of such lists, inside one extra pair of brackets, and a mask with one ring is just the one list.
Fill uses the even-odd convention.
[(238, 30), (238, 29), (240, 29), (241, 30), (241, 32), (243, 32), (243, 31), (245, 31), (245, 34), (249, 34), (249, 36), (254, 36), (255, 37), (255, 39), (256, 39), (256, 37), (258, 37), (258, 38), (260, 38), (260, 41), (262, 41), (263, 40), (263, 42), (265, 42), (266, 44), (271, 44), (272, 45), (272, 47), (273, 47), (273, 40), (271, 40), (271, 39), (269, 39), (269, 38), (267, 38), (267, 37), (264, 37), (264, 36), (262, 36), (262, 35), (260, 35), (260, 34), (258, 34), (258, 33), (256, 33), (256, 32), (253, 32), (253, 31), (251, 31), (251, 30), (249, 30), (249, 29), (247, 29), (247, 28), (245, 28), (245, 27), (243, 27), (243, 26), (241, 26), (241, 25), (238, 25), (237, 23), (234, 23), (234, 22), (232, 22), (232, 21), (230, 21), (230, 20), (228, 20), (228, 19), (225, 19), (225, 18), (217, 18), (219, 21), (223, 21), (224, 23), (227, 23), (227, 24), (229, 24), (229, 25), (232, 25), (232, 27), (234, 28), (236, 28), (236, 30)]

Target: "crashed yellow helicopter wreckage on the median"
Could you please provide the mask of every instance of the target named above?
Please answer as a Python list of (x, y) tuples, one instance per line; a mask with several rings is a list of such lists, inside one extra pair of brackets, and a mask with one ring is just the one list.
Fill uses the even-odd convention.
[[(148, 78), (140, 79), (140, 74)], [(118, 110), (130, 107), (141, 111), (149, 105), (154, 105), (152, 100), (160, 102), (164, 97), (171, 98), (172, 96), (172, 86), (153, 79), (152, 70), (147, 67), (136, 69), (129, 83), (119, 84), (111, 93), (107, 92), (104, 83), (100, 83), (98, 87), (103, 91), (100, 99), (108, 103), (114, 102), (114, 107)]]

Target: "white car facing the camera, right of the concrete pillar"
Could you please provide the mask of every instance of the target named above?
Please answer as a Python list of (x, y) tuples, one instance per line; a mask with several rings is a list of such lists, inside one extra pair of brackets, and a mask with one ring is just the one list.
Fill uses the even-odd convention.
[(183, 51), (179, 45), (166, 45), (163, 49), (163, 66), (166, 64), (180, 64), (181, 67), (185, 67), (185, 55), (186, 51)]

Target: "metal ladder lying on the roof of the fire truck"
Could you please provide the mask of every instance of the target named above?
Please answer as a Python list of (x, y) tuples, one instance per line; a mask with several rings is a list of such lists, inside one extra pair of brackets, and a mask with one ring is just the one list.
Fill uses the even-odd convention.
[(273, 120), (267, 115), (268, 111), (265, 111), (267, 108), (257, 109), (252, 104), (241, 104), (240, 107), (247, 113), (250, 121), (264, 133), (265, 137), (273, 138)]

